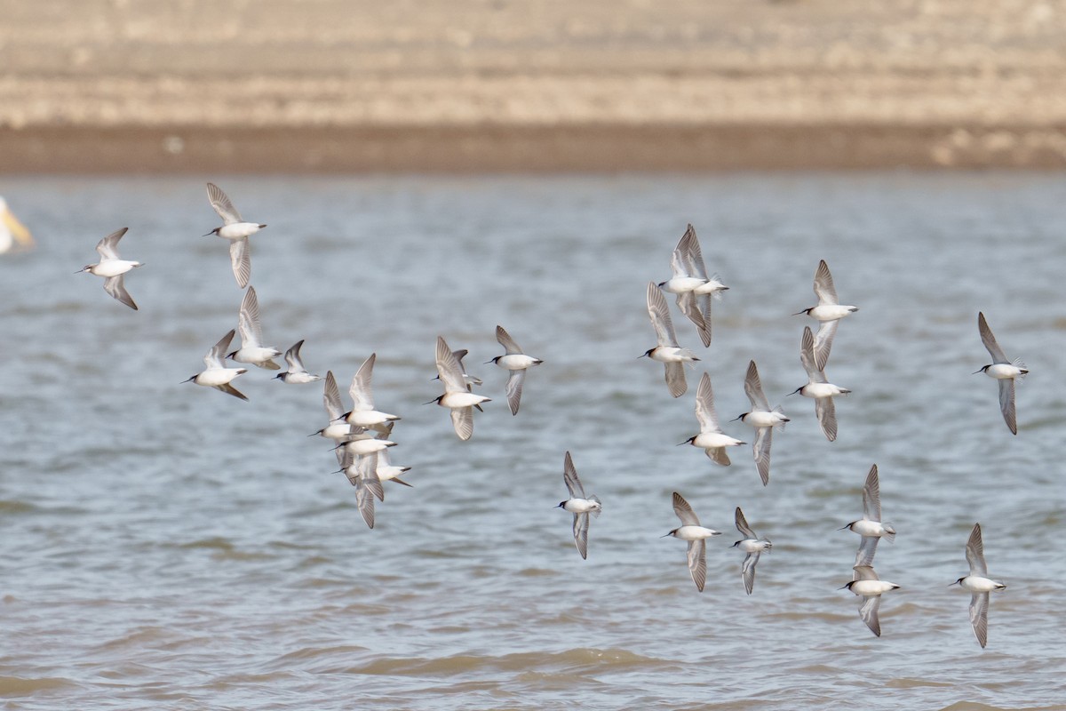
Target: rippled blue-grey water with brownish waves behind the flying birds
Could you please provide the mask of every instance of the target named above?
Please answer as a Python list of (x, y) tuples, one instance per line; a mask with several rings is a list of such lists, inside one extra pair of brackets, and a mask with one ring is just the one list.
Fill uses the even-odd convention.
[[(344, 399), (377, 353), (374, 394), (400, 414), (366, 528), (328, 442), (320, 384), (255, 370), (240, 402), (181, 381), (237, 325), (242, 293), (203, 180), (3, 178), (38, 241), (0, 260), (0, 695), (7, 709), (1066, 708), (1063, 385), (1066, 178), (793, 174), (247, 178), (219, 182), (244, 216), (268, 343), (306, 339)], [(714, 305), (704, 360), (674, 400), (649, 280), (692, 222)], [(75, 275), (122, 226), (141, 306)], [(798, 344), (819, 259), (841, 301), (822, 436)], [(673, 297), (669, 298), (671, 307)], [(1012, 358), (1017, 437), (983, 310)], [(545, 360), (522, 408), (481, 365), (504, 325)], [(467, 348), (494, 398), (461, 442), (434, 341)], [(748, 409), (755, 359), (772, 404), (770, 486), (747, 447), (717, 467), (691, 447), (695, 386), (723, 420)], [(750, 440), (741, 422), (726, 432)], [(603, 500), (588, 560), (570, 535), (566, 450)], [(883, 636), (838, 589), (871, 464), (886, 520)], [(697, 593), (671, 491), (706, 526)], [(732, 512), (774, 540), (744, 594)], [(964, 546), (980, 521), (989, 644), (970, 629)]]

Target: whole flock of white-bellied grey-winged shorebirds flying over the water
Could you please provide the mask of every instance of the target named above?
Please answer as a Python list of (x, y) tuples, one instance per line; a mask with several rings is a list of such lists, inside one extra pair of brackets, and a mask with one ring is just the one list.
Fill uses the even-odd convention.
[[(245, 291), (241, 303), (238, 328), (229, 330), (208, 351), (204, 357), (204, 370), (185, 382), (214, 388), (235, 398), (247, 400), (233, 386), (233, 382), (239, 376), (248, 372), (246, 368), (239, 366), (244, 363), (264, 370), (279, 371), (280, 366), (274, 362), (274, 359), (282, 355), (277, 349), (263, 344), (259, 302), (255, 288), (248, 286), (252, 277), (248, 238), (266, 225), (244, 221), (226, 194), (213, 183), (207, 184), (207, 193), (211, 207), (222, 219), (223, 225), (211, 230), (205, 237), (216, 235), (229, 241), (233, 276), (238, 286), (241, 289), (246, 288), (247, 291)], [(99, 262), (87, 264), (80, 272), (103, 277), (104, 290), (118, 302), (135, 310), (138, 306), (126, 290), (124, 276), (142, 264), (138, 261), (122, 259), (118, 255), (118, 242), (126, 231), (126, 228), (123, 228), (100, 240), (96, 246), (96, 251), (100, 255)], [(647, 287), (648, 316), (656, 333), (657, 345), (646, 351), (642, 357), (646, 356), (663, 363), (666, 387), (671, 395), (678, 398), (688, 390), (685, 363), (693, 363), (699, 358), (692, 350), (679, 345), (664, 292), (677, 296), (677, 306), (681, 313), (695, 325), (704, 345), (709, 346), (712, 340), (711, 304), (714, 298), (721, 297), (722, 292), (726, 291), (728, 287), (721, 281), (716, 274), (708, 275), (699, 242), (692, 225), (689, 225), (675, 247), (671, 266), (672, 277), (669, 279), (659, 284), (651, 281)], [(825, 367), (840, 321), (858, 311), (858, 307), (840, 304), (833, 276), (824, 260), (819, 263), (814, 272), (814, 294), (818, 297), (815, 306), (793, 314), (806, 314), (818, 321), (819, 327), (817, 334), (809, 326), (804, 327), (800, 360), (807, 372), (807, 383), (790, 394), (798, 393), (814, 401), (814, 413), (822, 433), (826, 439), (834, 441), (837, 437), (837, 417), (833, 399), (837, 395), (847, 394), (850, 390), (830, 383), (826, 378)], [(1021, 361), (1007, 359), (1003, 349), (1000, 348), (988, 327), (983, 313), (978, 314), (978, 327), (982, 342), (992, 359), (991, 363), (984, 366), (978, 372), (984, 372), (999, 382), (999, 400), (1004, 421), (1011, 432), (1017, 434), (1015, 381), (1022, 378), (1028, 370)], [(241, 346), (236, 351), (230, 351), (230, 343), (238, 332), (241, 337)], [(502, 326), (497, 326), (496, 338), (503, 346), (504, 353), (488, 362), (496, 363), (508, 372), (506, 398), (512, 415), (517, 415), (526, 371), (543, 361), (523, 353), (522, 349)], [(323, 403), (328, 422), (313, 435), (336, 442), (335, 453), (340, 465), (338, 471), (344, 472), (349, 482), (355, 487), (358, 510), (367, 526), (372, 529), (374, 527), (374, 501), (384, 501), (385, 499), (383, 482), (391, 481), (410, 486), (400, 479), (409, 468), (391, 465), (388, 457), (388, 450), (395, 446), (390, 437), (400, 417), (381, 411), (374, 405), (371, 378), (376, 354), (371, 354), (352, 378), (349, 394), (353, 404), (350, 410), (344, 411), (333, 371), (328, 371), (323, 378), (309, 373), (304, 367), (300, 356), (303, 343), (304, 341), (295, 343), (285, 353), (288, 368), (275, 377), (288, 384), (324, 381)], [(489, 398), (474, 392), (473, 388), (482, 385), (482, 382), (466, 372), (463, 366), (463, 358), (466, 355), (467, 351), (453, 351), (443, 337), (438, 336), (436, 341), (437, 377), (443, 387), (443, 393), (431, 403), (436, 403), (449, 410), (452, 426), (462, 440), (470, 439), (473, 435), (473, 410), (481, 410), (481, 405), (489, 402)], [(238, 367), (229, 367), (227, 361), (233, 361)], [(736, 419), (755, 429), (753, 457), (762, 484), (766, 486), (770, 483), (773, 431), (782, 429), (789, 422), (789, 418), (785, 416), (779, 406), (770, 406), (754, 360), (748, 363), (744, 390), (750, 401), (750, 410)], [(714, 409), (711, 378), (707, 372), (700, 377), (696, 390), (695, 414), (699, 423), (699, 432), (681, 443), (702, 449), (715, 464), (729, 466), (730, 459), (727, 450), (746, 442), (723, 432)], [(596, 496), (585, 494), (569, 452), (566, 452), (564, 457), (563, 480), (569, 498), (562, 501), (558, 507), (572, 514), (575, 545), (581, 558), (586, 559), (589, 517), (599, 516), (602, 503)], [(706, 542), (708, 538), (721, 535), (721, 532), (701, 526), (692, 506), (677, 491), (673, 494), (673, 506), (681, 526), (669, 531), (664, 537), (673, 536), (688, 542), (689, 571), (696, 588), (702, 592), (707, 578)], [(882, 595), (899, 588), (900, 585), (881, 580), (873, 568), (877, 542), (881, 538), (892, 542), (895, 537), (892, 524), (882, 520), (876, 465), (870, 469), (866, 479), (862, 490), (862, 508), (861, 519), (852, 521), (841, 529), (853, 531), (860, 536), (853, 565), (853, 579), (841, 589), (849, 589), (862, 599), (859, 616), (870, 630), (879, 636), (881, 624), (877, 613)], [(742, 538), (733, 544), (733, 547), (745, 554), (741, 566), (741, 577), (745, 592), (750, 595), (755, 587), (756, 564), (763, 552), (771, 551), (773, 543), (755, 533), (739, 506), (734, 512), (734, 524)], [(969, 564), (969, 575), (959, 578), (953, 584), (958, 584), (971, 593), (970, 621), (978, 642), (984, 647), (987, 644), (988, 594), (992, 591), (1003, 589), (1005, 585), (988, 578), (980, 523), (974, 526), (966, 544), (966, 559)]]

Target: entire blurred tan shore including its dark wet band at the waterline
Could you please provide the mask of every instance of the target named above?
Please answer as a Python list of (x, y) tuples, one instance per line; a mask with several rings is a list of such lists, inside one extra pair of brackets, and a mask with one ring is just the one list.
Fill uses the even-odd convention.
[(0, 172), (1066, 166), (1051, 0), (0, 0)]

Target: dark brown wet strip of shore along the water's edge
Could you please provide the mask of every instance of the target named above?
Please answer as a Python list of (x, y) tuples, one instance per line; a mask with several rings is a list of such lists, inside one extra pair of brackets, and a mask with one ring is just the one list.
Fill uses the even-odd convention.
[(579, 125), (0, 130), (2, 172), (1061, 168), (1066, 126)]

